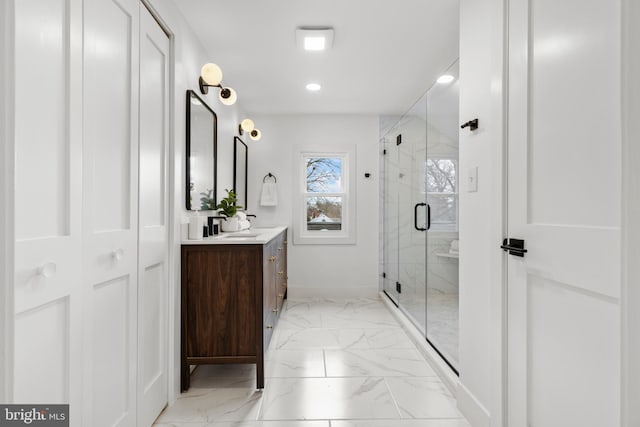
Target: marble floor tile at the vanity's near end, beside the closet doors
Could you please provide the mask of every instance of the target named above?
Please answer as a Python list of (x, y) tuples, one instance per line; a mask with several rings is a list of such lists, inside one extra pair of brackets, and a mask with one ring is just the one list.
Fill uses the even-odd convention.
[(255, 387), (190, 389), (160, 414), (158, 423), (254, 421), (261, 402)]

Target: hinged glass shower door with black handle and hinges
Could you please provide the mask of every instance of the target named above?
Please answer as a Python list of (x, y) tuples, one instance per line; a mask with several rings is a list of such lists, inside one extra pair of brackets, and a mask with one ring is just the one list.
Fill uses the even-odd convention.
[(426, 333), (426, 96), (383, 138), (383, 288)]

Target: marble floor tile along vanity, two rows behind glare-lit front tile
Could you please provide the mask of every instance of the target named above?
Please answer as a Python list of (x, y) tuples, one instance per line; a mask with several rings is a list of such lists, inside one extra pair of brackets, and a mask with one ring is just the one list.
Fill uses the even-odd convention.
[(368, 348), (363, 329), (279, 329), (275, 350)]

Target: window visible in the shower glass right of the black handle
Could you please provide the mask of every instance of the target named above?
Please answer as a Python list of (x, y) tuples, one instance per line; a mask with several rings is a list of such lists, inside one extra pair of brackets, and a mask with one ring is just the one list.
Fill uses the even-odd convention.
[(425, 189), (431, 206), (431, 229), (458, 229), (458, 162), (455, 159), (427, 159)]

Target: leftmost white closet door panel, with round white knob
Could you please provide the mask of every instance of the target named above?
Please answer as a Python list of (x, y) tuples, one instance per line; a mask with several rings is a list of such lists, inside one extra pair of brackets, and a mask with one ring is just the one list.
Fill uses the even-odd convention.
[(82, 406), (82, 1), (13, 4), (13, 401), (70, 403), (74, 414)]

